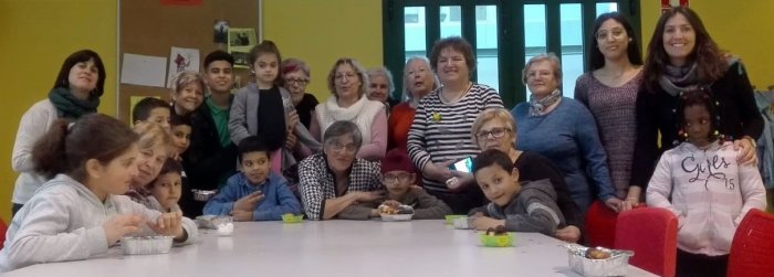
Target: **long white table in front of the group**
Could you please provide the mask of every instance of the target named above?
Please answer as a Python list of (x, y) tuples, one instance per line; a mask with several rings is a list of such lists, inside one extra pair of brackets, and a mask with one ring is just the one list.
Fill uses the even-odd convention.
[[(479, 246), (478, 233), (443, 221), (237, 223), (219, 237), (201, 230), (194, 245), (168, 255), (105, 257), (40, 264), (4, 276), (578, 276), (564, 243), (517, 233), (515, 247)], [(655, 276), (630, 266), (629, 276)]]

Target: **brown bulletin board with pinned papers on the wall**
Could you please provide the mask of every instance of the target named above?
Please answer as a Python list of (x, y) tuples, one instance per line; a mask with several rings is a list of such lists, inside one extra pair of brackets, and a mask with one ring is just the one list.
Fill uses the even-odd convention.
[[(196, 49), (201, 67), (208, 53), (228, 49), (227, 44), (215, 42), (218, 20), (228, 21), (230, 28), (252, 28), (260, 40), (260, 0), (119, 0), (118, 118), (128, 122), (132, 104), (140, 97), (170, 98), (166, 87), (123, 83), (125, 53), (166, 57), (169, 66), (172, 46)], [(250, 79), (247, 68), (234, 68), (234, 73), (241, 84)]]

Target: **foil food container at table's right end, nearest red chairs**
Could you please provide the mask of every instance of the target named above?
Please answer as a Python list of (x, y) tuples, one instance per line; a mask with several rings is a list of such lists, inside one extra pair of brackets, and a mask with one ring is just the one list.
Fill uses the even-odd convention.
[(629, 271), (629, 257), (635, 253), (630, 251), (616, 251), (597, 247), (598, 251), (609, 255), (608, 258), (593, 259), (586, 257), (589, 247), (569, 244), (567, 256), (569, 268), (583, 276), (626, 276)]

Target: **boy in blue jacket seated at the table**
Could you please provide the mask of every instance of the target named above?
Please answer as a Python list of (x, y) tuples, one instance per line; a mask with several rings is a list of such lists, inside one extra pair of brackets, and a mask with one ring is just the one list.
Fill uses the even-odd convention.
[(205, 214), (232, 215), (234, 221), (280, 221), (300, 214), (301, 203), (287, 181), (271, 171), (269, 148), (255, 136), (239, 143), (241, 172), (229, 178), (205, 205)]

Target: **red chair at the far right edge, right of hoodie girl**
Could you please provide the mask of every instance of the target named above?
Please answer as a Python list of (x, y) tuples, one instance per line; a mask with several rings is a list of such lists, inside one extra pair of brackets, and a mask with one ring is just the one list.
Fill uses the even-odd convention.
[(731, 243), (728, 276), (773, 276), (773, 256), (774, 215), (750, 210)]

